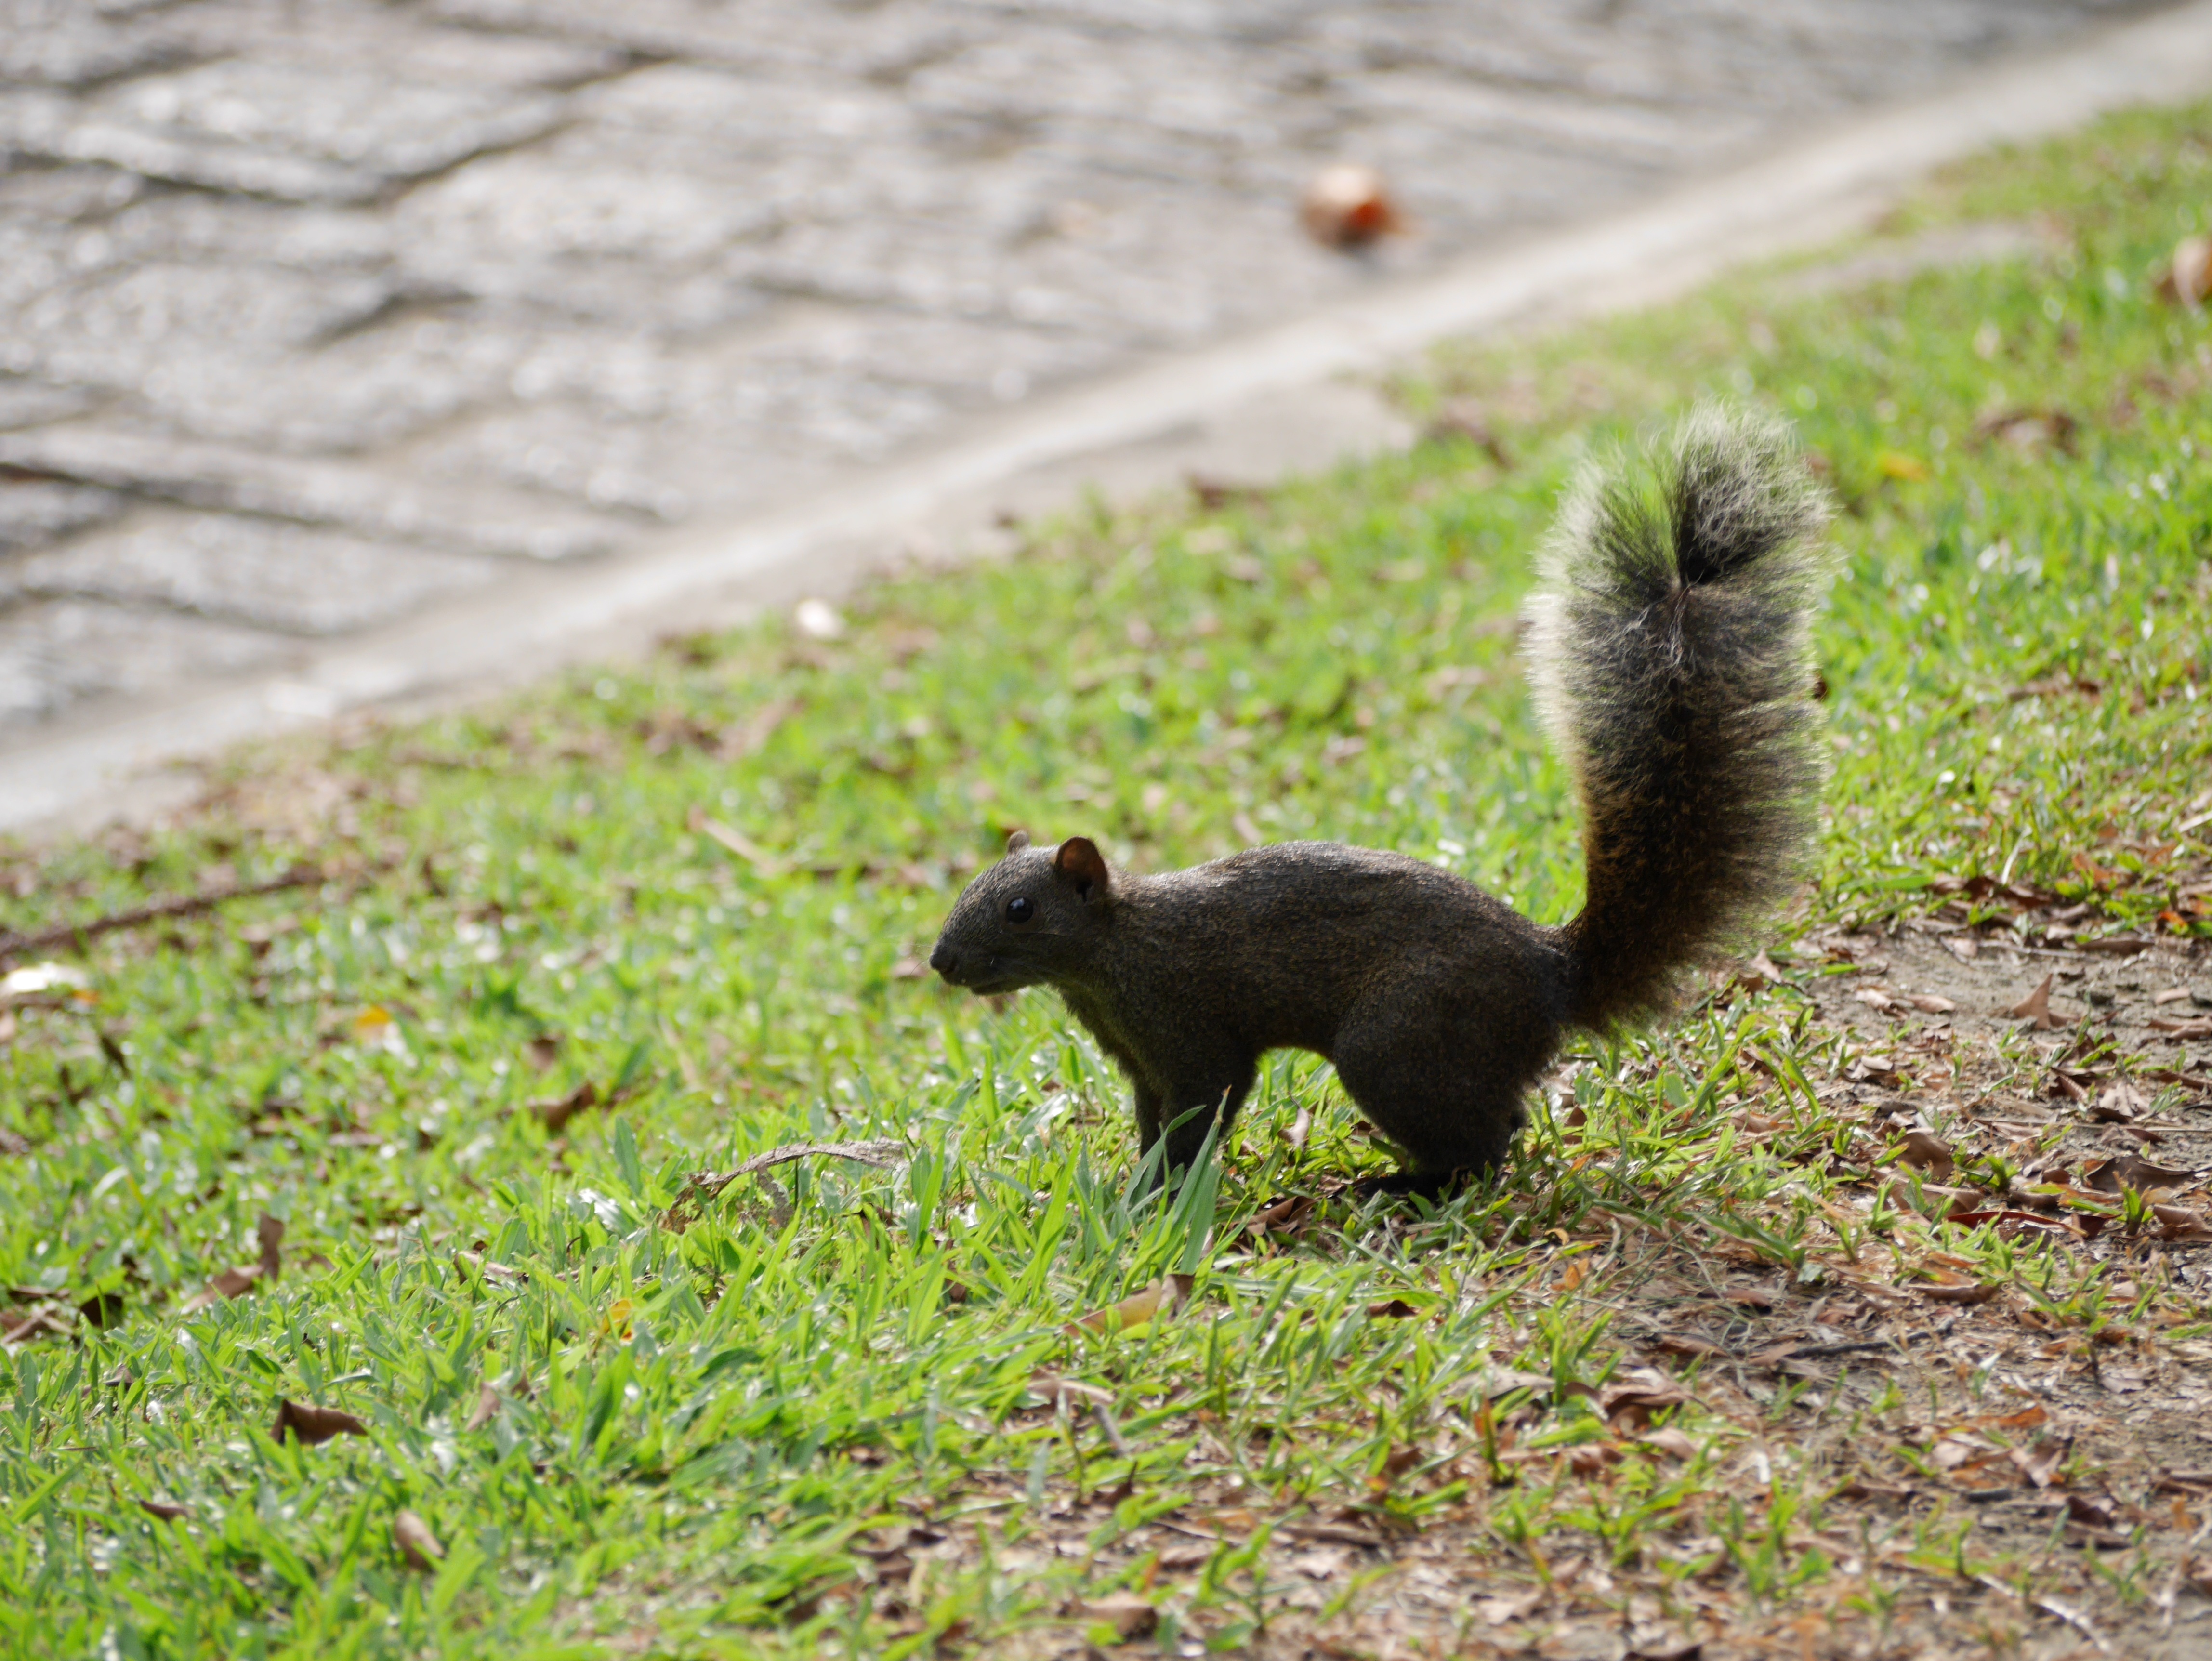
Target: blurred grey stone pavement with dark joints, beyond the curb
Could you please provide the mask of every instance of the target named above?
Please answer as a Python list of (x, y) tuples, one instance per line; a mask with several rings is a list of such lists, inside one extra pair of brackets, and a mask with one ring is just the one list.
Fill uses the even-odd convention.
[(0, 0), (0, 752), (2150, 9)]

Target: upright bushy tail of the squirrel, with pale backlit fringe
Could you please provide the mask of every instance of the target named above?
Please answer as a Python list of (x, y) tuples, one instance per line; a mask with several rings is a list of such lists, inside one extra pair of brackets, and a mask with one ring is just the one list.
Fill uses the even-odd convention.
[(1827, 772), (1809, 650), (1825, 524), (1790, 429), (1721, 409), (1568, 495), (1531, 659), (1582, 785), (1573, 1026), (1661, 1013), (1681, 969), (1798, 880)]

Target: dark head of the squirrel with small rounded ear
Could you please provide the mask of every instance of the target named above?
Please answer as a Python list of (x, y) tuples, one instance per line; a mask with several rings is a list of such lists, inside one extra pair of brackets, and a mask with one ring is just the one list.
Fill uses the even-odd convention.
[(929, 967), (973, 993), (1011, 993), (1082, 969), (1113, 909), (1113, 871), (1097, 843), (1071, 836), (1031, 847), (1006, 838), (1006, 858), (980, 874), (945, 918)]

